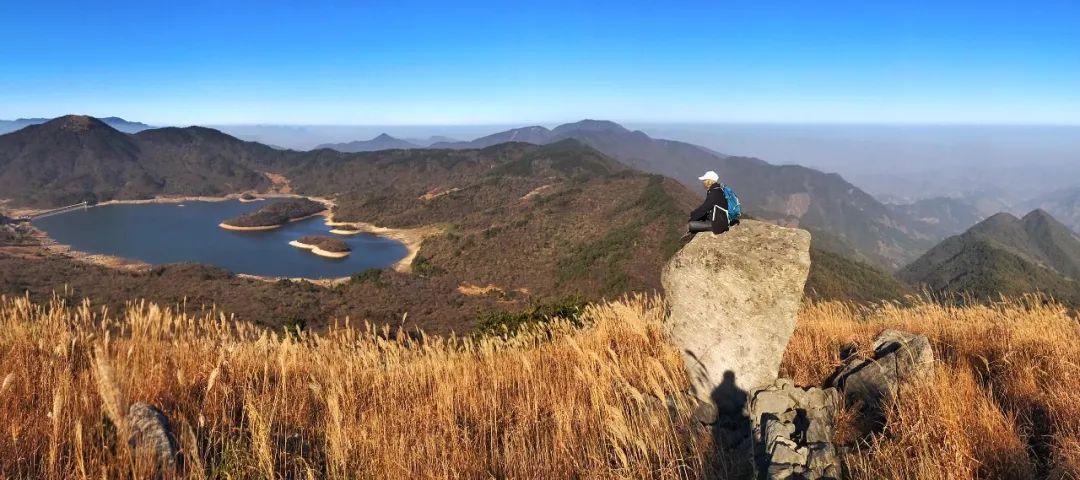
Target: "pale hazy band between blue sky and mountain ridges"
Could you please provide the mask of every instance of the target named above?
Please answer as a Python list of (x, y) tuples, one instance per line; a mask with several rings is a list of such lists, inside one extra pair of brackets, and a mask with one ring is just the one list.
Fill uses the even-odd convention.
[[(129, 121), (140, 121), (125, 118)], [(1035, 194), (1080, 186), (1080, 125), (619, 122), (654, 138), (838, 173), (882, 201), (990, 198), (1022, 209)], [(489, 125), (214, 124), (280, 148), (367, 141), (386, 133), (424, 146), (432, 136), (471, 141), (535, 122)], [(540, 123), (553, 128), (559, 122)], [(167, 126), (167, 125), (153, 125)], [(0, 130), (2, 131), (2, 130)], [(1013, 210), (1020, 212), (1018, 210)]]

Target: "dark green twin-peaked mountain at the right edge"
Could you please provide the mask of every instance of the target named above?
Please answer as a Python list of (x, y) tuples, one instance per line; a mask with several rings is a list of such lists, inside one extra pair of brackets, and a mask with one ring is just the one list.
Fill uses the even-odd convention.
[(1042, 210), (990, 216), (899, 272), (940, 294), (977, 298), (1049, 294), (1080, 305), (1080, 235)]

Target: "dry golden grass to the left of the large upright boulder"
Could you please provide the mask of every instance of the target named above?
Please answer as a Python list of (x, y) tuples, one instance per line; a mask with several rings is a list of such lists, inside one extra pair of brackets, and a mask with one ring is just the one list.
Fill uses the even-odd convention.
[(662, 311), (637, 298), (510, 339), (292, 338), (3, 298), (0, 477), (148, 475), (122, 441), (135, 401), (171, 418), (191, 478), (693, 477), (707, 435), (657, 400), (686, 385)]

